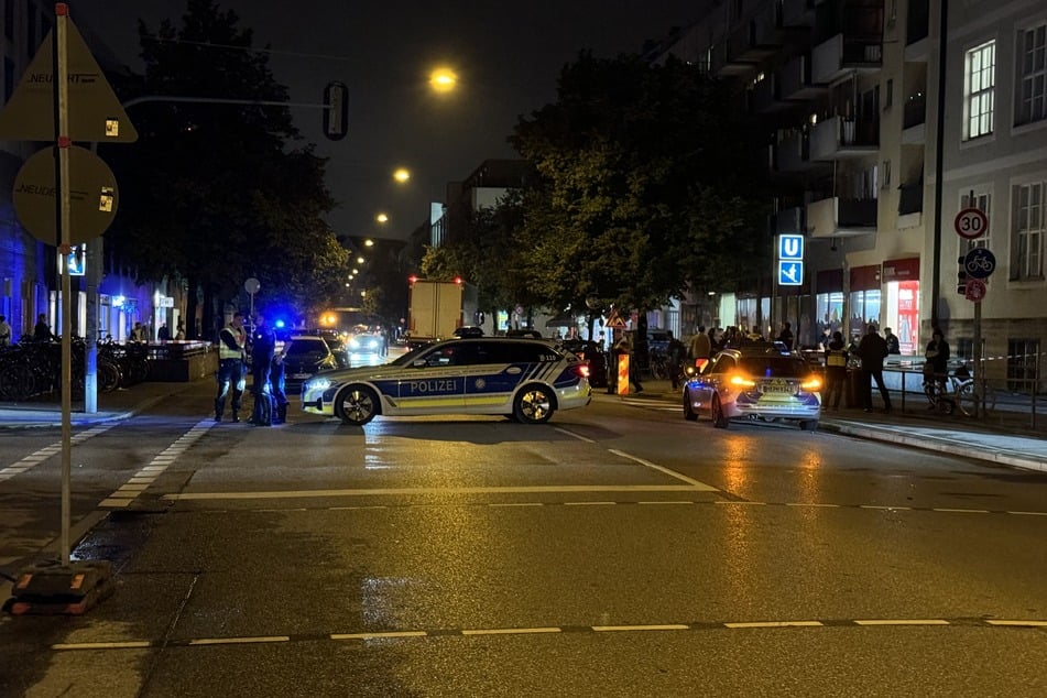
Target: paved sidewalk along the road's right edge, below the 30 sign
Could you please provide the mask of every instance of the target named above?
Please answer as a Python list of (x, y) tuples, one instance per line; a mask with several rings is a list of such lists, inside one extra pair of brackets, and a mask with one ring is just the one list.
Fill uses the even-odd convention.
[[(668, 381), (644, 380), (643, 392), (630, 400), (680, 403), (679, 391)], [(593, 389), (598, 400), (620, 400), (608, 395), (607, 389)], [(879, 395), (873, 397), (879, 401)], [(995, 414), (991, 421), (979, 421), (957, 414), (946, 416), (926, 410), (923, 395), (892, 394), (894, 410), (865, 413), (860, 408), (824, 412), (818, 428), (824, 432), (857, 436), (877, 441), (901, 444), (925, 450), (952, 454), (1000, 466), (1047, 472), (1047, 410), (1037, 412), (1037, 429), (1028, 426), (1029, 412)]]

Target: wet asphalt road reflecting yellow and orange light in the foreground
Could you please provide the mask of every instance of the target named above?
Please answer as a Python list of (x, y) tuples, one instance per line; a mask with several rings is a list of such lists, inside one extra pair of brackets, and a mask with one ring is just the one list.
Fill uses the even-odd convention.
[[(1047, 692), (1044, 473), (602, 394), (216, 425), (210, 388), (78, 432), (114, 590), (0, 617), (0, 696)], [(0, 568), (54, 534), (57, 434), (0, 443)]]

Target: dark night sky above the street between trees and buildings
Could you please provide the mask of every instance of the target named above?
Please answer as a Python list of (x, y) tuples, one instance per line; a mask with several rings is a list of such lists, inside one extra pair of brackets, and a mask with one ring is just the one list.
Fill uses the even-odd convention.
[[(138, 19), (151, 30), (171, 19), (181, 28), (184, 0), (68, 0), (74, 23), (94, 31), (134, 69)], [(329, 222), (337, 235), (406, 238), (443, 201), (448, 182), (483, 160), (515, 157), (505, 142), (517, 117), (549, 103), (564, 64), (578, 52), (598, 57), (639, 51), (644, 40), (686, 26), (700, 4), (683, 0), (534, 0), (530, 3), (441, 0), (226, 0), (222, 10), (273, 51), (270, 66), (293, 102), (320, 103), (324, 86), (350, 90), (350, 132), (324, 138), (321, 112), (294, 109), (295, 123), (329, 157), (328, 186), (339, 201)], [(437, 64), (460, 86), (435, 96)], [(128, 116), (134, 121), (133, 108)], [(406, 186), (391, 173), (413, 173)], [(374, 216), (385, 211), (380, 227)]]

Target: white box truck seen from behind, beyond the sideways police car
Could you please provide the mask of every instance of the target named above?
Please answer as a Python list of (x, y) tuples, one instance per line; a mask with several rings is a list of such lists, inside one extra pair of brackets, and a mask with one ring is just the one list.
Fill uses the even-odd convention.
[(407, 286), (407, 345), (419, 347), (472, 325), (477, 288), (460, 279), (429, 281), (412, 276)]

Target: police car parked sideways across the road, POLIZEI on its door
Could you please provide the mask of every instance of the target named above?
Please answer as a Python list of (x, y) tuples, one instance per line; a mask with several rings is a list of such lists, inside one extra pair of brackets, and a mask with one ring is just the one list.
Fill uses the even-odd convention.
[(377, 415), (492, 414), (526, 424), (592, 399), (588, 363), (552, 342), (448, 339), (379, 367), (325, 371), (302, 386), (302, 408), (363, 425)]

